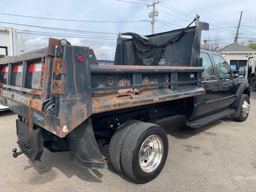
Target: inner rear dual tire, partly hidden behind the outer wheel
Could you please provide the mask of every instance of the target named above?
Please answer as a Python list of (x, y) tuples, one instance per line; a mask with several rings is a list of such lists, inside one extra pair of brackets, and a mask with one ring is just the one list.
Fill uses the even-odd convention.
[(142, 123), (142, 121), (138, 120), (128, 120), (124, 122), (123, 124), (118, 126), (110, 140), (108, 148), (109, 159), (115, 170), (117, 170), (120, 173), (124, 173), (121, 166), (121, 151), (122, 146), (124, 144), (124, 140), (128, 133), (130, 132), (132, 126), (135, 126), (140, 123)]

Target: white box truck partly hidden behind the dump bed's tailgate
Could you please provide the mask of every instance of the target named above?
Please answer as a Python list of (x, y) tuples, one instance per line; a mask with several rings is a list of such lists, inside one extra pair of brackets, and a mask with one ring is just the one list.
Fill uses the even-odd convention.
[[(15, 28), (0, 26), (0, 58), (20, 55), (26, 51), (23, 38), (16, 34)], [(0, 105), (0, 110), (7, 109), (6, 106)]]

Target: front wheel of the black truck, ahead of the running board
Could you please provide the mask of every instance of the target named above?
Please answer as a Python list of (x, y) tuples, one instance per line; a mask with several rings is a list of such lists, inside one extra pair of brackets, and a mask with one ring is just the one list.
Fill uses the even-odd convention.
[(238, 122), (244, 122), (248, 118), (249, 112), (250, 112), (250, 98), (248, 95), (242, 94), (240, 109), (239, 109), (239, 116), (237, 118), (234, 117), (234, 120)]

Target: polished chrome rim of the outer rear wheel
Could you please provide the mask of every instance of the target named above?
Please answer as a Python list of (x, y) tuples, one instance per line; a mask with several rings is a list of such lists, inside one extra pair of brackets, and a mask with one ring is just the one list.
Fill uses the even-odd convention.
[(139, 152), (140, 170), (151, 173), (160, 165), (164, 152), (162, 139), (158, 135), (151, 135), (144, 140)]

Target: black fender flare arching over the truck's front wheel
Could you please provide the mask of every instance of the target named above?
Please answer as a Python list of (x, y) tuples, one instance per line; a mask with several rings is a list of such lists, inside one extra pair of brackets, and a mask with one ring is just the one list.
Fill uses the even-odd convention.
[(243, 81), (240, 84), (240, 86), (238, 87), (238, 89), (236, 90), (236, 101), (232, 105), (232, 108), (235, 109), (236, 111), (231, 115), (232, 117), (238, 117), (239, 116), (241, 98), (242, 98), (242, 94), (244, 94), (244, 92), (246, 92), (246, 94), (250, 98), (250, 85), (246, 81)]

